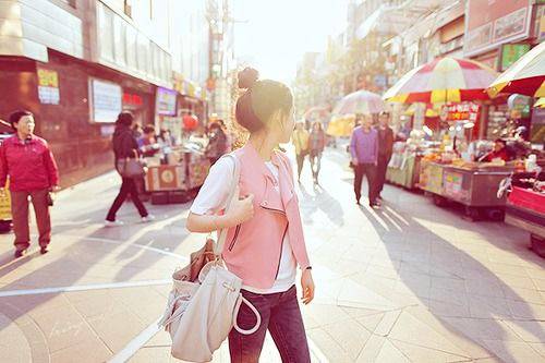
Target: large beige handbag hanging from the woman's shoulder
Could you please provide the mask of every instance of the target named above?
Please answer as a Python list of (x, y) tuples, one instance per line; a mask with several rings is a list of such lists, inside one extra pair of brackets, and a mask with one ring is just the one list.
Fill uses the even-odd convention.
[[(234, 156), (225, 157), (231, 157), (235, 166), (229, 209), (233, 198), (239, 197), (240, 168)], [(228, 271), (221, 259), (226, 238), (223, 229), (218, 243), (208, 239), (203, 249), (192, 254), (190, 265), (172, 275), (173, 288), (160, 324), (172, 338), (171, 354), (177, 359), (209, 362), (233, 327), (244, 335), (259, 328), (259, 313), (240, 292), (242, 280)], [(250, 330), (237, 325), (241, 304), (246, 304), (256, 316), (256, 325)]]

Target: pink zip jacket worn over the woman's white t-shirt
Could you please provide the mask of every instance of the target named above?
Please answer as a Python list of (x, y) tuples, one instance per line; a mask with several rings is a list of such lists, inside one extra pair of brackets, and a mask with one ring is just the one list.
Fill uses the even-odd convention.
[(279, 169), (280, 193), (276, 179), (251, 144), (234, 152), (240, 162), (240, 193), (254, 195), (254, 217), (229, 229), (223, 245), (223, 261), (244, 285), (268, 289), (275, 283), (286, 233), (293, 255), (302, 269), (310, 266), (293, 190), (293, 171), (289, 159), (280, 152), (271, 158)]

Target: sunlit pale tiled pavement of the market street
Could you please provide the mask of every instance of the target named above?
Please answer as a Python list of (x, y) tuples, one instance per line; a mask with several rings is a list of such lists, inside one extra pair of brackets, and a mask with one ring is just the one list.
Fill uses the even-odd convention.
[[(317, 285), (303, 307), (314, 361), (545, 361), (545, 263), (524, 232), (392, 186), (380, 210), (359, 208), (346, 165), (330, 150), (323, 187), (299, 191)], [(152, 206), (152, 225), (128, 205), (128, 226), (101, 228), (114, 184), (105, 176), (60, 195), (45, 256), (13, 262), (12, 237), (0, 237), (0, 362), (107, 361), (162, 313), (165, 279), (203, 237), (184, 230), (186, 205)], [(158, 332), (130, 361), (175, 361), (168, 344)], [(262, 361), (279, 361), (266, 347)], [(223, 348), (215, 362), (228, 361)]]

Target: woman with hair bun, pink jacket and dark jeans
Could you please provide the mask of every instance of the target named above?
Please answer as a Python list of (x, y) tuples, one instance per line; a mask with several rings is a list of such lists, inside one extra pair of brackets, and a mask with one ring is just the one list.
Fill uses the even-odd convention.
[[(293, 96), (282, 83), (257, 77), (257, 71), (250, 68), (239, 74), (239, 87), (246, 90), (237, 101), (235, 116), (250, 132), (246, 144), (232, 153), (240, 167), (240, 197), (223, 213), (235, 161), (222, 157), (191, 207), (187, 229), (202, 233), (228, 229), (223, 261), (242, 279), (243, 297), (262, 316), (252, 335), (231, 330), (231, 362), (258, 362), (268, 329), (282, 362), (306, 363), (311, 359), (298, 303), (296, 267), (304, 304), (314, 298), (314, 282), (293, 170), (288, 157), (276, 149), (290, 141), (293, 131)], [(243, 304), (239, 326), (249, 329), (255, 323), (254, 313)]]

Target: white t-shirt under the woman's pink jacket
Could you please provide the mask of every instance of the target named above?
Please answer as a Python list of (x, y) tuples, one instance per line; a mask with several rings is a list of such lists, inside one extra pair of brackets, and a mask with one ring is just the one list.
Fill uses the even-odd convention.
[[(278, 181), (278, 168), (270, 161), (265, 162)], [(227, 206), (227, 198), (233, 181), (234, 164), (231, 158), (220, 158), (211, 168), (197, 197), (193, 201), (191, 213), (195, 215), (214, 215)], [(277, 182), (278, 185), (278, 182)], [(280, 193), (279, 186), (275, 186)], [(275, 283), (270, 289), (256, 289), (243, 285), (244, 290), (254, 293), (276, 293), (288, 291), (295, 283), (296, 262), (290, 244), (288, 233), (282, 241), (280, 266)]]

